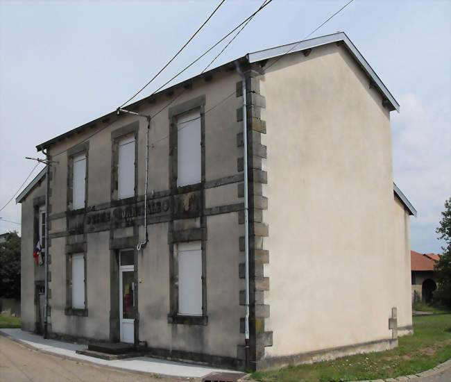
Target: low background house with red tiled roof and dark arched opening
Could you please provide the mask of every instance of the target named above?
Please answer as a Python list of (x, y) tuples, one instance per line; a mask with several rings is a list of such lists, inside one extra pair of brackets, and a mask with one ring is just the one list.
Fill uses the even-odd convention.
[(430, 302), (432, 292), (437, 289), (437, 272), (434, 269), (440, 256), (436, 254), (418, 254), (410, 251), (412, 304), (416, 301)]

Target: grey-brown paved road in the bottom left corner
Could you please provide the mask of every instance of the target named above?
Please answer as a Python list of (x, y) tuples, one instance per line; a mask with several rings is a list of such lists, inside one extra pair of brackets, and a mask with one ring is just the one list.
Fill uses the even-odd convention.
[[(187, 379), (184, 379), (185, 381)], [(180, 382), (63, 359), (0, 336), (0, 382)]]

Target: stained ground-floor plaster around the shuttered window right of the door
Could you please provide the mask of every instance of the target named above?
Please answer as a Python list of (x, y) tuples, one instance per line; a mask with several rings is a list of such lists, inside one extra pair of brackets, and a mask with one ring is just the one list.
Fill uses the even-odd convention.
[[(207, 217), (207, 316), (208, 324), (169, 324), (169, 244), (167, 223), (149, 226), (149, 242), (139, 255), (139, 340), (149, 347), (193, 351), (215, 356), (237, 356), (237, 345), (244, 343), (239, 333), (240, 256), (242, 235), (237, 213)], [(144, 235), (144, 231), (141, 232)], [(235, 243), (232, 245), (230, 243)]]

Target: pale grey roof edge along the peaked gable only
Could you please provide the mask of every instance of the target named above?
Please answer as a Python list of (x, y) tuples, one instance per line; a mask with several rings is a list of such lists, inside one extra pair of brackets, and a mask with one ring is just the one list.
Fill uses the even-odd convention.
[(399, 103), (391, 95), (391, 92), (386, 88), (384, 83), (380, 80), (379, 76), (375, 73), (373, 68), (365, 60), (364, 56), (358, 51), (352, 41), (349, 40), (348, 36), (344, 32), (333, 33), (332, 35), (324, 35), (317, 38), (311, 38), (309, 40), (302, 40), (298, 42), (293, 42), (292, 44), (281, 45), (280, 47), (264, 49), (262, 51), (255, 51), (253, 53), (248, 53), (247, 58), (249, 63), (256, 63), (257, 61), (269, 60), (269, 58), (274, 58), (278, 56), (283, 56), (287, 53), (293, 53), (296, 51), (305, 51), (305, 49), (312, 49), (314, 47), (319, 47), (321, 45), (330, 44), (331, 42), (343, 42), (345, 47), (351, 53), (352, 57), (357, 60), (357, 63), (366, 72), (366, 74), (374, 81), (380, 92), (384, 94), (386, 99), (390, 102), (391, 110), (400, 111)]

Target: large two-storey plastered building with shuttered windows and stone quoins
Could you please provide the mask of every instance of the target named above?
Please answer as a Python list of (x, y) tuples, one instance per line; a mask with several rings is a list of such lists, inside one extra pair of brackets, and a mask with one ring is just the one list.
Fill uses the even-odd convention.
[[(128, 106), (152, 116), (150, 130), (114, 110), (39, 144), (54, 161), (49, 335), (237, 369), (396, 346), (412, 331), (416, 214), (393, 185), (398, 108), (335, 33), (249, 53)], [(41, 180), (17, 198), (30, 331)]]

